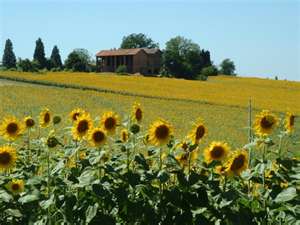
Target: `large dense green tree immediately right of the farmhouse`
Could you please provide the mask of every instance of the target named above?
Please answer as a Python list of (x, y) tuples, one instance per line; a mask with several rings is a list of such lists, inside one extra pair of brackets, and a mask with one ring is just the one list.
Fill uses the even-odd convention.
[(209, 51), (201, 51), (198, 44), (181, 36), (166, 43), (163, 61), (171, 75), (186, 79), (195, 79), (204, 66), (211, 65)]

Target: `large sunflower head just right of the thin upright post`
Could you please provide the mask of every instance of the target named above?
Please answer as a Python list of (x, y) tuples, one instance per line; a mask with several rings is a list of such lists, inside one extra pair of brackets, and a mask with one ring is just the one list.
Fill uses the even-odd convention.
[(271, 134), (277, 123), (278, 118), (274, 114), (268, 110), (263, 110), (260, 114), (256, 115), (254, 129), (257, 135), (267, 136)]

